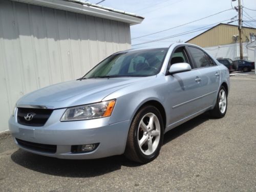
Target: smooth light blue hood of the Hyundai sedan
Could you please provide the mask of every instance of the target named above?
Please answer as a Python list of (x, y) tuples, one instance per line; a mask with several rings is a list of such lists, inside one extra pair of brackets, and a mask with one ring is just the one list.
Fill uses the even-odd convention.
[(62, 82), (25, 95), (18, 100), (17, 105), (44, 105), (58, 109), (95, 103), (119, 89), (148, 78), (154, 77), (92, 78)]

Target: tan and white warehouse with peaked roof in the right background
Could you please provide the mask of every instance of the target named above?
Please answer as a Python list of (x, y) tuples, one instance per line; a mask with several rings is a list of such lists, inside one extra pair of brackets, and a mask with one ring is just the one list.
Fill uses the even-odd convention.
[[(203, 47), (215, 58), (240, 58), (238, 26), (219, 24), (193, 37), (186, 42)], [(249, 44), (256, 38), (256, 29), (243, 27), (243, 56), (246, 60), (254, 61), (254, 50)]]

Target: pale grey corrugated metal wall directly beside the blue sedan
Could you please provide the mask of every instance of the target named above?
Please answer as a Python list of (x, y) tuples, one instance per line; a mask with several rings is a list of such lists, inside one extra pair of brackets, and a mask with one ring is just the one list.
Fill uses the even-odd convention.
[(129, 24), (0, 0), (0, 132), (24, 94), (79, 78), (130, 47)]

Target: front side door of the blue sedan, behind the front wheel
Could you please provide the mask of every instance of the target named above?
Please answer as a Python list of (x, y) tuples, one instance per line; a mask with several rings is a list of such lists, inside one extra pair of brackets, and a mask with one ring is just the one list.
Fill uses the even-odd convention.
[[(189, 63), (191, 68), (194, 68), (185, 46), (174, 49), (167, 70), (174, 63), (180, 62)], [(169, 105), (166, 112), (169, 115), (167, 125), (171, 127), (202, 109), (198, 104), (201, 95), (200, 73), (198, 70), (191, 70), (167, 75), (166, 78), (168, 85), (166, 103)]]

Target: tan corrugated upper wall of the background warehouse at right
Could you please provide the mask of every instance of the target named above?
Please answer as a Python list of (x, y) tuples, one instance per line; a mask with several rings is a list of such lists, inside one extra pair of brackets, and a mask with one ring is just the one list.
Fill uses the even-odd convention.
[[(242, 40), (249, 41), (250, 33), (256, 33), (256, 29), (243, 28)], [(219, 25), (205, 33), (188, 40), (189, 44), (196, 44), (201, 47), (212, 47), (234, 43), (233, 35), (239, 34), (237, 26)]]

